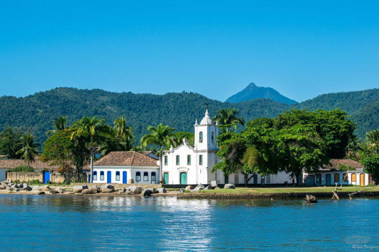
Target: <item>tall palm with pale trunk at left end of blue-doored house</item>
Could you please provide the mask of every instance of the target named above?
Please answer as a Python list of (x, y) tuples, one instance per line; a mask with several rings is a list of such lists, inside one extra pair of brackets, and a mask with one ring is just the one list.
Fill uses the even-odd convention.
[(105, 124), (104, 118), (98, 118), (96, 116), (83, 117), (80, 120), (72, 123), (70, 129), (75, 129), (72, 132), (70, 139), (73, 140), (75, 137), (90, 137), (90, 143), (88, 148), (91, 151), (91, 183), (93, 182), (93, 152), (98, 149), (96, 144), (93, 142), (93, 138), (96, 135), (112, 135), (113, 129), (111, 126)]

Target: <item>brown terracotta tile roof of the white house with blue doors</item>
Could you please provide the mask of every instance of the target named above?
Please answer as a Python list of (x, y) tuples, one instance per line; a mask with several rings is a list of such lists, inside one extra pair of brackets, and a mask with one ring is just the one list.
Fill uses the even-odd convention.
[(113, 151), (97, 160), (94, 166), (158, 166), (157, 160), (136, 151)]

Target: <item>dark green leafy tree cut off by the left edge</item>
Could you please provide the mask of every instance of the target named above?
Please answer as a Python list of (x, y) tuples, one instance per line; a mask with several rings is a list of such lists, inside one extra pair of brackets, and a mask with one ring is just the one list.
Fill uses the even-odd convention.
[(11, 159), (19, 159), (20, 154), (16, 155), (20, 143), (22, 129), (7, 127), (0, 133), (0, 154), (7, 155)]

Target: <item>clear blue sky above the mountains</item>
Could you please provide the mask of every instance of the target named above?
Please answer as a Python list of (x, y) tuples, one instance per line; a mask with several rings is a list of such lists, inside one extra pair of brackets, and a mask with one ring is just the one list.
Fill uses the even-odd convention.
[(378, 5), (2, 1), (0, 95), (63, 86), (224, 101), (254, 82), (303, 101), (377, 88)]

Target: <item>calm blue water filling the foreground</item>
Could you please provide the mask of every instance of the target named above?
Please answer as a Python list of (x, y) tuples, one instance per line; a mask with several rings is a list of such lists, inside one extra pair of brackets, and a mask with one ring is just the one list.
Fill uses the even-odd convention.
[(246, 207), (251, 202), (0, 195), (0, 243), (10, 251), (346, 251), (354, 244), (379, 246), (379, 199), (255, 200), (255, 207)]

